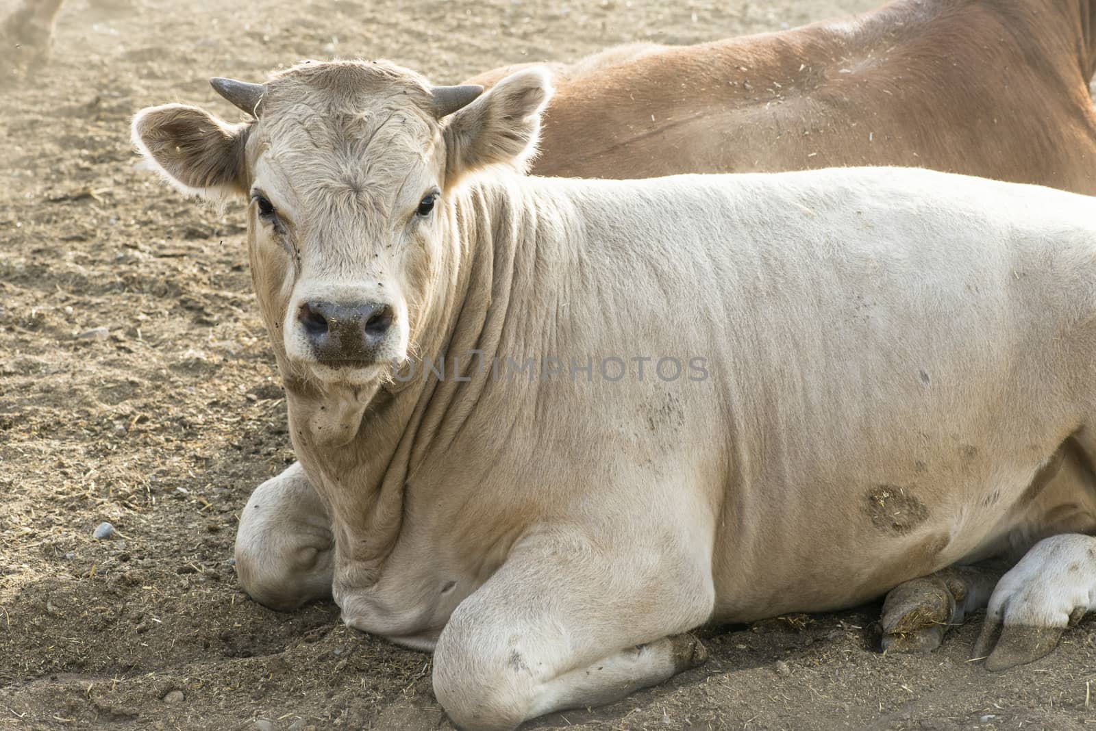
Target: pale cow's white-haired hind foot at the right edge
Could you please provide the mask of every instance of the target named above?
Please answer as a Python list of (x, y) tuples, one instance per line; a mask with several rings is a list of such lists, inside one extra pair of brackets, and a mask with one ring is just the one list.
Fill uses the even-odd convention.
[(1043, 538), (997, 582), (973, 657), (985, 658), (987, 670), (1038, 660), (1094, 608), (1096, 537)]

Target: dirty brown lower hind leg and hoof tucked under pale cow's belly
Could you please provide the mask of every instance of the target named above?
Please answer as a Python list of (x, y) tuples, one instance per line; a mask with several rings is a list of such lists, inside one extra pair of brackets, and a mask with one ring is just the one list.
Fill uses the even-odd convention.
[(929, 652), (963, 617), (985, 606), (1004, 561), (952, 566), (894, 587), (880, 618), (884, 652)]

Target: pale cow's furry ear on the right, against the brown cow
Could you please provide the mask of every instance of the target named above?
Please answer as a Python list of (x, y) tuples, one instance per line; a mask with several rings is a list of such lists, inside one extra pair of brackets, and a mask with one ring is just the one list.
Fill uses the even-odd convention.
[(536, 155), (540, 112), (552, 91), (547, 70), (524, 69), (454, 112), (445, 126), (446, 185), (490, 165), (525, 172)]

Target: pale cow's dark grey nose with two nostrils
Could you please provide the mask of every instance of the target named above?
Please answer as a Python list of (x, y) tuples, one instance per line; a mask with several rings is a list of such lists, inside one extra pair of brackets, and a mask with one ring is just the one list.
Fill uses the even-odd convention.
[(333, 304), (306, 302), (297, 312), (318, 361), (338, 366), (372, 361), (377, 346), (392, 324), (392, 308), (387, 304)]

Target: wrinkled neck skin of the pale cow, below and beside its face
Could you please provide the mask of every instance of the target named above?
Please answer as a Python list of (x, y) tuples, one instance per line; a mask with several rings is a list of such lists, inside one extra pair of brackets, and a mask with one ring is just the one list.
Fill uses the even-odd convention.
[[(458, 380), (446, 353), (480, 350), (489, 361), (496, 347), (498, 333), (487, 337), (483, 324), (492, 290), (509, 291), (509, 276), (500, 274), (510, 270), (513, 252), (496, 252), (492, 232), (514, 225), (505, 217), (517, 208), (500, 202), (500, 193), (471, 183), (446, 194), (438, 222), (445, 242), (441, 275), (420, 322), (412, 323), (411, 352), (419, 360), (411, 378), (367, 387), (296, 378), (271, 330), (294, 450), (332, 517), (336, 602), (346, 591), (376, 583), (399, 536), (404, 489), (416, 465), (445, 449), (482, 386), (476, 379)], [(420, 361), (426, 359), (445, 362), (444, 380), (424, 374)], [(460, 362), (459, 371), (478, 367)], [(406, 378), (409, 364), (399, 372)]]

